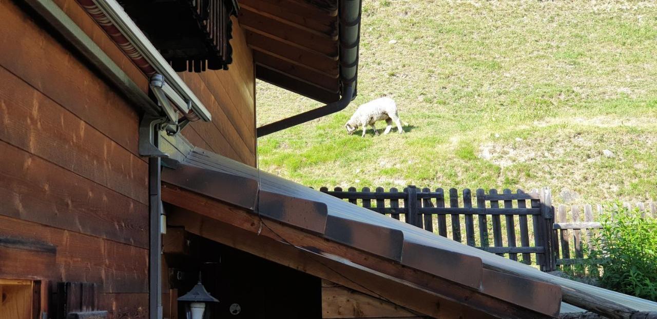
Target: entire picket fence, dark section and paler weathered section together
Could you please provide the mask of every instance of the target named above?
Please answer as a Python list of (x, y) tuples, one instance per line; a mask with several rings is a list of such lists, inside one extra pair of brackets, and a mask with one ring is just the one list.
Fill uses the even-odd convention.
[[(583, 263), (583, 243), (590, 242), (601, 227), (594, 215), (602, 213), (602, 205), (597, 205), (595, 212), (591, 205), (554, 207), (549, 188), (530, 192), (480, 188), (474, 194), (467, 188), (445, 192), (412, 185), (401, 192), (397, 188), (386, 192), (381, 187), (374, 192), (367, 187), (361, 191), (354, 187), (320, 190), (514, 261), (532, 264), (533, 255), (543, 271)], [(657, 218), (657, 202), (625, 206), (639, 207), (646, 216)]]

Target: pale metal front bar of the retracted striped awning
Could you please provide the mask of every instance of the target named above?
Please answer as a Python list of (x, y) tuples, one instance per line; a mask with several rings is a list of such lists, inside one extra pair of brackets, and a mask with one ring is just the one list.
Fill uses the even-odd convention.
[[(139, 27), (132, 21), (132, 19), (125, 13), (123, 7), (119, 5), (116, 0), (91, 0), (95, 5), (97, 5), (97, 10), (100, 12), (94, 11), (94, 8), (85, 7), (85, 10), (89, 11), (93, 18), (101, 18), (99, 13), (104, 14), (105, 18), (109, 20), (111, 24), (114, 24), (116, 28), (124, 35), (124, 37), (129, 41), (131, 45), (135, 48), (138, 54), (141, 54), (145, 60), (152, 66), (156, 73), (161, 74), (164, 77), (164, 81), (168, 85), (171, 85), (173, 90), (185, 100), (191, 102), (191, 109), (194, 111), (196, 116), (200, 117), (204, 121), (212, 121), (212, 115), (208, 112), (208, 109), (203, 105), (200, 100), (194, 95), (191, 89), (187, 87), (183, 79), (181, 79), (173, 68), (164, 60), (162, 54), (150, 43), (150, 40), (141, 32)], [(82, 4), (82, 3), (81, 3)], [(97, 20), (101, 23), (101, 21)], [(106, 23), (106, 22), (104, 22)], [(150, 75), (150, 74), (149, 74)], [(193, 115), (192, 115), (193, 116)], [(189, 116), (186, 116), (189, 118)], [(193, 119), (191, 119), (193, 120)]]

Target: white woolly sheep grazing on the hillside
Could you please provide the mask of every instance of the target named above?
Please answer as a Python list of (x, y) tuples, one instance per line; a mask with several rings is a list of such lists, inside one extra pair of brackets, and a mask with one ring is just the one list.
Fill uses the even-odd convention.
[(377, 98), (376, 100), (358, 106), (356, 112), (353, 113), (353, 116), (351, 116), (351, 119), (347, 121), (344, 127), (347, 129), (349, 135), (352, 135), (358, 127), (363, 127), (363, 137), (365, 137), (367, 125), (370, 125), (374, 129), (374, 135), (378, 135), (374, 123), (381, 120), (386, 120), (388, 124), (386, 131), (383, 132), (384, 134), (390, 133), (392, 122), (395, 122), (397, 131), (400, 134), (404, 133), (403, 129), (401, 129), (399, 116), (397, 116), (397, 104), (395, 104), (392, 98), (388, 97)]

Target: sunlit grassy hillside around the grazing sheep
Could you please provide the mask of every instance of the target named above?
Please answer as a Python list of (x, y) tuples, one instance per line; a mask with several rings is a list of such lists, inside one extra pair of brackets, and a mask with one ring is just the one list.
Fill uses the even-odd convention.
[[(360, 61), (358, 98), (260, 138), (262, 169), (314, 187), (657, 200), (654, 1), (363, 0)], [(257, 89), (259, 125), (319, 106)], [(347, 135), (357, 105), (380, 96), (396, 100), (406, 133)]]

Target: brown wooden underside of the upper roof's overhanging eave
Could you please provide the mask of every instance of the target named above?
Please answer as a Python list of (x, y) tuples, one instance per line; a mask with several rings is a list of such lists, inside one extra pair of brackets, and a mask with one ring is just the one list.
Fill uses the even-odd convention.
[(256, 77), (321, 102), (340, 98), (338, 0), (240, 0)]

